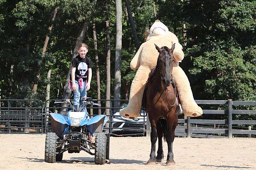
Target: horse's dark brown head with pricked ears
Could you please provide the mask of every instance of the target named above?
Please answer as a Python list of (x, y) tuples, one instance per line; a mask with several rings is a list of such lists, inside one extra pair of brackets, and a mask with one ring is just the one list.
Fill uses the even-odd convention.
[(160, 71), (161, 81), (165, 87), (168, 87), (172, 83), (172, 62), (174, 61), (173, 50), (175, 48), (175, 44), (172, 45), (172, 48), (164, 46), (159, 48), (156, 44), (155, 47), (159, 52), (159, 56), (157, 59), (157, 69)]

